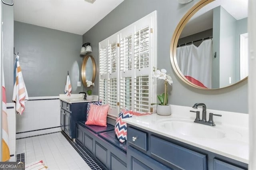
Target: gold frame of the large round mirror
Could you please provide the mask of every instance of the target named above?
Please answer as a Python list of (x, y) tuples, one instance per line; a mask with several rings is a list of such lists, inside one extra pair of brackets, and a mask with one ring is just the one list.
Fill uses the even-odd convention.
[[(174, 34), (172, 36), (172, 41), (171, 41), (171, 47), (170, 47), (170, 59), (171, 59), (171, 63), (172, 63), (172, 67), (175, 71), (175, 73), (178, 75), (178, 77), (185, 82), (186, 84), (192, 86), (192, 87), (196, 87), (198, 89), (204, 89), (204, 90), (215, 90), (215, 89), (206, 89), (203, 87), (200, 87), (198, 85), (195, 85), (193, 83), (191, 83), (188, 79), (186, 79), (186, 77), (182, 74), (182, 72), (180, 71), (180, 68), (178, 66), (178, 62), (177, 62), (177, 56), (176, 56), (176, 49), (177, 49), (177, 45), (178, 45), (178, 40), (180, 38), (180, 34), (183, 30), (183, 28), (186, 26), (186, 24), (188, 23), (188, 21), (190, 20), (190, 18), (192, 18), (192, 16), (198, 12), (198, 10), (200, 10), (201, 8), (203, 8), (204, 6), (206, 6), (207, 4), (209, 4), (210, 2), (213, 2), (214, 0), (200, 0), (197, 4), (195, 4), (184, 16), (183, 18), (180, 20), (178, 26), (176, 27)], [(226, 87), (231, 87), (233, 85), (236, 85), (244, 80), (246, 80), (248, 78), (245, 77), (244, 79), (229, 85), (229, 86), (225, 86), (225, 87), (220, 87), (218, 89), (224, 89)]]

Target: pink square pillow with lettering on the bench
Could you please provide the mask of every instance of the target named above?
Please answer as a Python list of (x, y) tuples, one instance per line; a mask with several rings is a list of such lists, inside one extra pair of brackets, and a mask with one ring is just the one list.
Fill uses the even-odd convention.
[(86, 125), (107, 126), (109, 105), (91, 105)]

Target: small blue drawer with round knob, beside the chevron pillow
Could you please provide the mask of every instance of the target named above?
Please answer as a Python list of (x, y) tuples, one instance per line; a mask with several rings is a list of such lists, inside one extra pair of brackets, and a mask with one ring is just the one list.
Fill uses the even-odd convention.
[(147, 151), (147, 133), (140, 130), (129, 127), (127, 131), (127, 140), (138, 148)]

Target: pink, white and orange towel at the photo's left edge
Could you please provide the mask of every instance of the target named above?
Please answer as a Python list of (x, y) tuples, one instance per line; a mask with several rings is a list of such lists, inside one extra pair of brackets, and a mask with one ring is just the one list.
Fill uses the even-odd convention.
[[(3, 68), (3, 67), (2, 67)], [(6, 107), (6, 91), (4, 85), (4, 69), (2, 69), (2, 161), (10, 159), (7, 107)]]

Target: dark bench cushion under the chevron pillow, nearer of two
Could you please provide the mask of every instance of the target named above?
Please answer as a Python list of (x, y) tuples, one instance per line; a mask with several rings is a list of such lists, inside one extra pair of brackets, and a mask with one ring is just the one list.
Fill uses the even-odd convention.
[(120, 143), (119, 140), (116, 138), (116, 134), (114, 132), (114, 130), (108, 131), (108, 132), (102, 132), (100, 134), (98, 134), (98, 136), (104, 138), (105, 140), (107, 140), (108, 142), (114, 144), (114, 146), (120, 148), (121, 150), (123, 150), (124, 152), (126, 152), (126, 142), (124, 143)]

